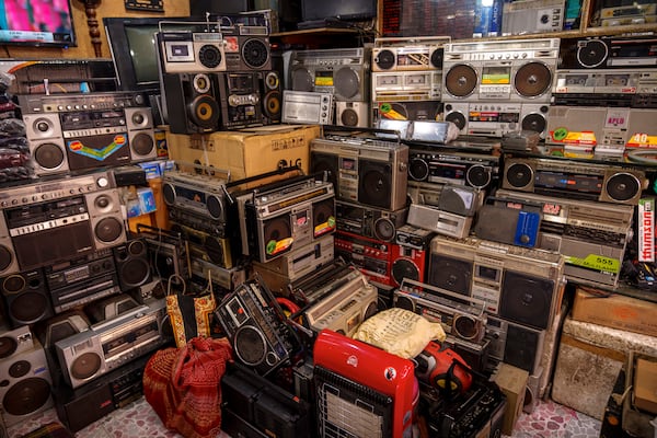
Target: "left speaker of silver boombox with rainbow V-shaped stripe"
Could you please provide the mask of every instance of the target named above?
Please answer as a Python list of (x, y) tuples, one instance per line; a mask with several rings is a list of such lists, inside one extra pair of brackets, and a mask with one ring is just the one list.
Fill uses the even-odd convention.
[(25, 114), (25, 134), (30, 154), (34, 161), (34, 173), (47, 175), (69, 170), (66, 146), (59, 123), (59, 115)]

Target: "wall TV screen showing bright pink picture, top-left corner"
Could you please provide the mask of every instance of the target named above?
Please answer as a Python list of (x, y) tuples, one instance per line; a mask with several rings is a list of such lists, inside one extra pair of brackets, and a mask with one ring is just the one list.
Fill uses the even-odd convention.
[(70, 0), (0, 1), (0, 43), (76, 46)]

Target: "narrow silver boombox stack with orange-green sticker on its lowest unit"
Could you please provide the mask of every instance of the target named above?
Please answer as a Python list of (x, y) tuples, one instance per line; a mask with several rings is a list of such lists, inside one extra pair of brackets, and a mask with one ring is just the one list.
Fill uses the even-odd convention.
[(438, 120), (449, 37), (374, 38), (372, 119)]

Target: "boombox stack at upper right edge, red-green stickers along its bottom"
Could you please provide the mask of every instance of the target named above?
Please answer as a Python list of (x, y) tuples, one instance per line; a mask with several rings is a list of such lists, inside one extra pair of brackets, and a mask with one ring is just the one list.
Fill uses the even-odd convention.
[(613, 160), (654, 145), (657, 70), (650, 68), (650, 47), (656, 43), (655, 37), (565, 42), (546, 145), (574, 155)]

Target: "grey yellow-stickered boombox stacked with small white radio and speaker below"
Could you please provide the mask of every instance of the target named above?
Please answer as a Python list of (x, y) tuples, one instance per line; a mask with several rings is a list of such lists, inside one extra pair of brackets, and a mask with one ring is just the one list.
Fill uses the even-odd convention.
[(284, 122), (369, 127), (370, 49), (295, 50)]

